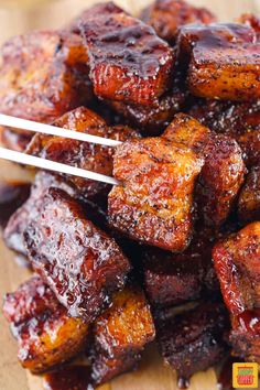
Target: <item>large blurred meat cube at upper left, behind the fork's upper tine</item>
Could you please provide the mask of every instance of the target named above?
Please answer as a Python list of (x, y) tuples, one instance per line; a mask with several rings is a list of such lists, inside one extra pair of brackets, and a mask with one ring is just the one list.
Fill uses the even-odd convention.
[[(34, 31), (1, 48), (0, 111), (50, 123), (93, 100), (88, 56), (80, 36), (65, 31)], [(41, 64), (41, 66), (39, 66)], [(2, 142), (24, 150), (32, 133), (3, 128)]]

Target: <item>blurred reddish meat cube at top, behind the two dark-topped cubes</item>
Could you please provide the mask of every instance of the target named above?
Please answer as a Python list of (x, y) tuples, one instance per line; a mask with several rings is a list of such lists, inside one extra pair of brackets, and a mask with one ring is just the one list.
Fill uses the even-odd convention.
[(174, 44), (178, 29), (188, 23), (208, 24), (216, 17), (205, 8), (197, 8), (182, 0), (156, 0), (142, 11), (141, 19), (150, 24), (156, 34)]

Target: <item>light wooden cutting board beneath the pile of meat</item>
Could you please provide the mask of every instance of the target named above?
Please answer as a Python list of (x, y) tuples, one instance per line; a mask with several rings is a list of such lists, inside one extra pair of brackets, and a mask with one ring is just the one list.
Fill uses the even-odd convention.
[[(116, 2), (137, 14), (142, 7), (149, 4), (150, 0), (120, 0)], [(191, 0), (189, 2), (209, 7), (223, 21), (230, 21), (242, 12), (260, 14), (260, 0)], [(22, 0), (17, 0), (19, 7), (13, 6), (14, 3), (15, 1), (0, 0), (0, 42), (13, 34), (35, 28), (59, 28), (80, 10), (95, 3), (95, 0), (42, 0), (40, 2), (26, 0), (24, 7), (22, 7)], [(31, 174), (13, 164), (0, 161), (0, 180), (4, 177), (26, 181)], [(19, 267), (14, 259), (15, 256), (0, 240), (0, 305), (2, 305), (2, 295), (15, 290), (30, 275), (30, 272)], [(18, 364), (17, 345), (10, 335), (2, 313), (0, 313), (0, 390), (43, 389), (42, 378), (32, 376)], [(141, 366), (136, 372), (123, 375), (99, 389), (177, 390), (176, 375), (163, 366), (155, 346), (151, 346), (145, 351)], [(208, 369), (206, 372), (196, 373), (192, 378), (189, 390), (217, 390), (215, 370)]]

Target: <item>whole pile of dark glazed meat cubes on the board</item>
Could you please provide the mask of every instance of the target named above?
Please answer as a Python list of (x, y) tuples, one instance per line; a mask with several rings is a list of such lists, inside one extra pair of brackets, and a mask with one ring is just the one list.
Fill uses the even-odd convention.
[(3, 305), (21, 365), (56, 383), (87, 357), (87, 389), (154, 339), (185, 384), (230, 354), (260, 364), (260, 20), (99, 3), (1, 54), (0, 112), (122, 141), (1, 128), (9, 149), (119, 182), (1, 184), (3, 239), (33, 272)]

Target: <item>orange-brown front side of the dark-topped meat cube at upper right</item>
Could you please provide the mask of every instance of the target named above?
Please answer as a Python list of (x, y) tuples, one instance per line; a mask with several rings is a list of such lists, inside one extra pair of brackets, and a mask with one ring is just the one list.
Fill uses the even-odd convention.
[(195, 96), (231, 100), (260, 98), (260, 44), (235, 47), (197, 45), (188, 71)]

